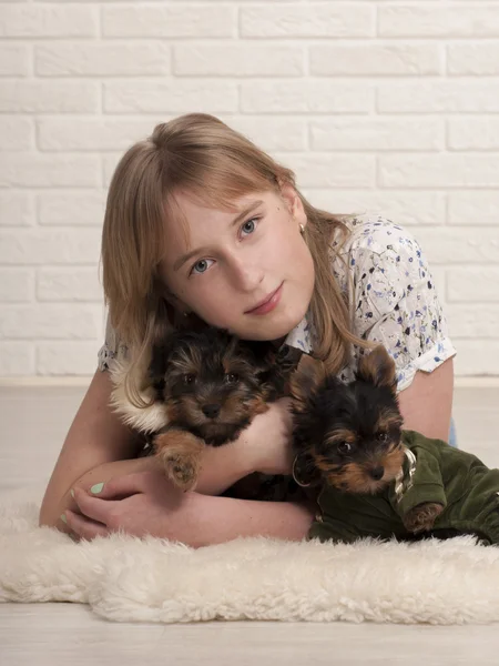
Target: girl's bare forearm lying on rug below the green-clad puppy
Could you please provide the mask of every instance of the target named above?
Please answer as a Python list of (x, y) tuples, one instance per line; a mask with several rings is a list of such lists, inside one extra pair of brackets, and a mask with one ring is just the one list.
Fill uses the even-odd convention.
[(313, 518), (312, 504), (203, 496), (187, 545), (201, 547), (221, 544), (240, 536), (302, 541)]

